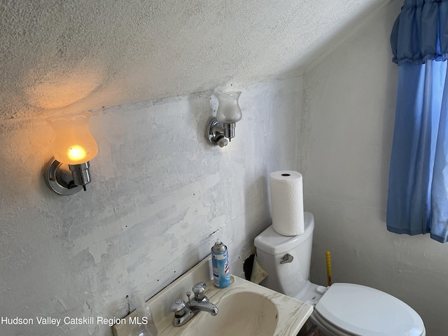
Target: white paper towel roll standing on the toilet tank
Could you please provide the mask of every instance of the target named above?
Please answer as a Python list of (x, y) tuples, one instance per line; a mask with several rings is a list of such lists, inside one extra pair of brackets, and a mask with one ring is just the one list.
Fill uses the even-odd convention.
[(271, 189), (272, 228), (279, 235), (296, 236), (304, 232), (302, 174), (273, 172)]

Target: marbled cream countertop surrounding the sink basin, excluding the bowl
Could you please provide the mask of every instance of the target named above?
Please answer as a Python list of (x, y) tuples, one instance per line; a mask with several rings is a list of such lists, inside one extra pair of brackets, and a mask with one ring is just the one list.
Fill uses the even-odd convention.
[[(307, 321), (313, 311), (310, 304), (300, 302), (292, 297), (288, 297), (278, 293), (269, 288), (262, 287), (256, 283), (246, 281), (238, 276), (231, 276), (230, 286), (227, 288), (216, 288), (211, 278), (211, 257), (210, 255), (202, 260), (195, 267), (190, 269), (186, 274), (183, 274), (179, 279), (174, 281), (167, 288), (161, 290), (158, 294), (148, 300), (148, 304), (153, 312), (153, 319), (158, 328), (159, 336), (181, 336), (186, 329), (195, 328), (201, 314), (209, 314), (201, 311), (197, 316), (193, 317), (186, 325), (181, 327), (174, 327), (173, 317), (174, 313), (169, 310), (172, 302), (182, 298), (187, 301), (186, 292), (191, 291), (195, 283), (204, 281), (207, 284), (205, 295), (209, 297), (209, 301), (219, 309), (219, 302), (228, 295), (238, 295), (238, 293), (252, 292), (258, 293), (263, 297), (276, 304), (278, 309), (278, 321), (276, 330), (273, 336), (295, 336), (302, 328), (302, 325)], [(218, 312), (219, 314), (219, 312)], [(127, 321), (130, 317), (134, 317), (135, 311), (128, 315)], [(213, 318), (214, 316), (210, 316)], [(232, 323), (232, 321), (229, 321)], [(121, 324), (113, 325), (114, 336), (128, 336), (130, 332), (130, 325)]]

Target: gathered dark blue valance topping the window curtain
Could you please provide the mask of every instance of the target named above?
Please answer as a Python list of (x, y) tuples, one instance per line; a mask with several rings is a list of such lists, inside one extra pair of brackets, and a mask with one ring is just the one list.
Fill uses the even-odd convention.
[(391, 34), (398, 65), (448, 59), (448, 0), (405, 0)]

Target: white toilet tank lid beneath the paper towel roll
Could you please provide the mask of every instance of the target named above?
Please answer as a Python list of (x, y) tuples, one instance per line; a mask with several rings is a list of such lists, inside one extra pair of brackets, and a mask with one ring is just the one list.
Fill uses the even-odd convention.
[(266, 253), (276, 255), (293, 250), (298, 245), (302, 244), (314, 230), (314, 217), (310, 212), (304, 213), (304, 232), (297, 236), (283, 236), (274, 231), (272, 225), (260, 233), (253, 244), (256, 248), (265, 251)]

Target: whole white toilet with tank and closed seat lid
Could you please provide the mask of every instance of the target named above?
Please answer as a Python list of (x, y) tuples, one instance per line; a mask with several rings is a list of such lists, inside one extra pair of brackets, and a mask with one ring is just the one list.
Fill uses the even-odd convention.
[(380, 290), (353, 283), (309, 282), (314, 217), (304, 213), (304, 233), (279, 235), (272, 225), (255, 237), (257, 258), (269, 276), (260, 284), (314, 305), (310, 321), (321, 336), (425, 336), (419, 314)]

